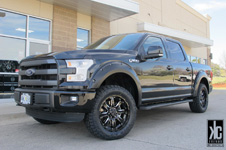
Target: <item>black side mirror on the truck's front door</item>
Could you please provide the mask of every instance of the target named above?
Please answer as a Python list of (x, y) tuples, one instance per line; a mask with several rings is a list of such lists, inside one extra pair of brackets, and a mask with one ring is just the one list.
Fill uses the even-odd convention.
[(150, 46), (148, 47), (147, 55), (145, 56), (146, 59), (150, 58), (159, 58), (163, 56), (163, 50), (160, 46)]

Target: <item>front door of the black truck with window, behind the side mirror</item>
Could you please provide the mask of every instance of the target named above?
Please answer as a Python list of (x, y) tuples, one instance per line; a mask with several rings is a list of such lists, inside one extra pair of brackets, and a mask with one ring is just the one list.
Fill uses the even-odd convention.
[(149, 36), (140, 46), (139, 51), (147, 55), (150, 46), (159, 46), (163, 50), (163, 56), (146, 59), (140, 62), (141, 73), (139, 75), (142, 88), (142, 103), (163, 100), (174, 94), (174, 75), (172, 62), (160, 37)]

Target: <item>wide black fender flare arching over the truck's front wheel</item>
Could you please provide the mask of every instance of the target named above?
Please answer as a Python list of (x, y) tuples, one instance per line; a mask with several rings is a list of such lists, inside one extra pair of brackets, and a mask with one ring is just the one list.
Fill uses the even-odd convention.
[(140, 104), (142, 99), (142, 90), (139, 82), (139, 78), (136, 72), (126, 63), (123, 62), (108, 62), (102, 65), (92, 76), (91, 82), (89, 84), (89, 89), (97, 89), (101, 86), (101, 84), (111, 75), (116, 73), (124, 73), (130, 76), (134, 83), (136, 84), (138, 91), (138, 104)]

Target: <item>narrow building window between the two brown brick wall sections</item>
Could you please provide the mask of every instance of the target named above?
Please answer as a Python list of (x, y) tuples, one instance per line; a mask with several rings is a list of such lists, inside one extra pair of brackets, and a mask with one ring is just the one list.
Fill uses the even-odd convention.
[(89, 45), (89, 30), (77, 28), (77, 49), (82, 49)]

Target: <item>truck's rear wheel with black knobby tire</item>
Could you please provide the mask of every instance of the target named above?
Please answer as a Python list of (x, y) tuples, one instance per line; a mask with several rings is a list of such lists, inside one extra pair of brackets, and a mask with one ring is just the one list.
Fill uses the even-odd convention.
[(197, 97), (193, 99), (193, 102), (189, 103), (191, 111), (195, 113), (204, 113), (207, 110), (208, 101), (209, 96), (206, 85), (200, 83)]

